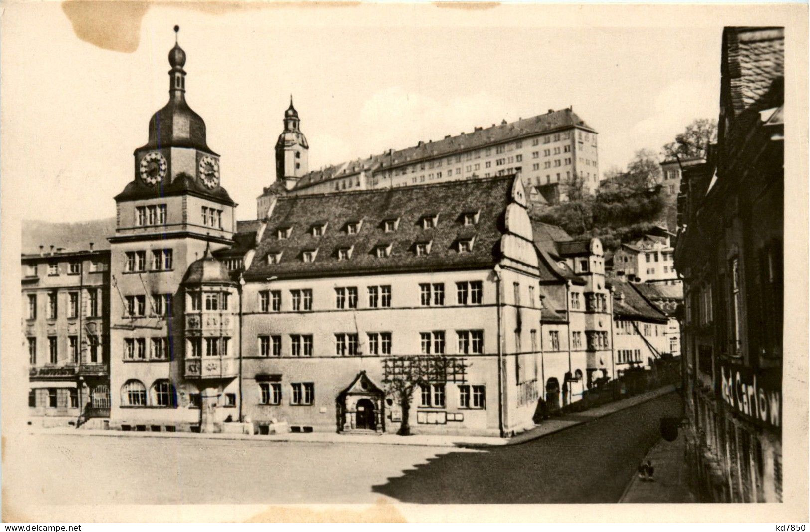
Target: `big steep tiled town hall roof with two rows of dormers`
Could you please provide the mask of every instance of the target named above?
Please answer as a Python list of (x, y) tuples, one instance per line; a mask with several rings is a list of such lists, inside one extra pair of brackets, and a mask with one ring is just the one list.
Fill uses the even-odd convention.
[[(245, 274), (248, 279), (268, 276), (307, 277), (381, 273), (386, 271), (443, 270), (494, 266), (499, 260), (504, 211), (511, 201), (514, 176), (454, 181), (421, 187), (362, 190), (345, 194), (284, 196), (278, 199), (256, 256)], [(463, 225), (463, 214), (478, 212), (475, 226)], [(423, 229), (425, 215), (438, 214), (436, 228)], [(394, 232), (384, 231), (386, 220), (399, 219)], [(360, 232), (347, 233), (347, 223), (362, 220)], [(313, 225), (326, 223), (322, 236), (312, 236)], [(290, 228), (279, 239), (279, 228)], [(474, 236), (472, 250), (458, 253), (459, 238)], [(427, 255), (417, 256), (416, 243), (430, 242)], [(377, 257), (377, 246), (389, 246), (390, 256)], [(339, 249), (352, 249), (339, 260)], [(317, 249), (313, 262), (302, 253)], [(270, 264), (269, 254), (281, 253)]]

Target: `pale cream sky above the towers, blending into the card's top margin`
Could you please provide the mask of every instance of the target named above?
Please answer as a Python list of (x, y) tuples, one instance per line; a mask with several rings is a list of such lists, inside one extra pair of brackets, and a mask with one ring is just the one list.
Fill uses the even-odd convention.
[[(186, 100), (221, 155), (238, 219), (255, 217), (275, 179), (291, 94), (310, 169), (569, 105), (599, 131), (601, 170), (624, 167), (693, 119), (718, 116), (722, 26), (674, 20), (694, 23), (520, 6), (168, 4), (135, 21), (122, 52), (80, 39), (65, 11), (41, 2), (6, 14), (3, 194), (20, 219), (114, 215), (133, 151), (168, 100), (176, 23)], [(114, 32), (114, 22), (101, 23)]]

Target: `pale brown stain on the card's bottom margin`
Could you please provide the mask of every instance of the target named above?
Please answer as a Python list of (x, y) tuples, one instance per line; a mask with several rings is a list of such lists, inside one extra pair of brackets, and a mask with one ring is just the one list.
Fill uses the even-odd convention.
[(405, 523), (402, 513), (385, 499), (367, 509), (324, 509), (305, 506), (270, 506), (264, 512), (246, 519), (246, 523), (298, 522), (298, 523)]

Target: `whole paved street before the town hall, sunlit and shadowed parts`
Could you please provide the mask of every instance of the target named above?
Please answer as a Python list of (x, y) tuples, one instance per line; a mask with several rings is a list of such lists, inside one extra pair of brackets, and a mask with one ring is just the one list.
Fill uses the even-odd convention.
[(36, 435), (28, 436), (27, 481), (16, 484), (23, 492), (14, 495), (42, 504), (373, 503), (381, 496), (415, 503), (616, 502), (659, 440), (664, 415), (680, 415), (677, 394), (486, 450)]

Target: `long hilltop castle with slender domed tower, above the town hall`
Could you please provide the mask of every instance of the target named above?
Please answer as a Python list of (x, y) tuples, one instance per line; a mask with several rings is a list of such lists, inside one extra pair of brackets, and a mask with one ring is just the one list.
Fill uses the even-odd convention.
[(521, 174), (530, 198), (539, 202), (565, 201), (570, 184), (582, 185), (590, 193), (599, 188), (597, 133), (571, 108), (475, 127), (471, 133), (313, 172), (306, 172), (308, 151), (291, 100), (276, 143), (275, 182), (257, 198), (258, 219), (266, 216), (268, 202), (282, 189), (296, 195), (328, 194), (514, 173)]

